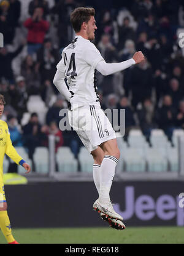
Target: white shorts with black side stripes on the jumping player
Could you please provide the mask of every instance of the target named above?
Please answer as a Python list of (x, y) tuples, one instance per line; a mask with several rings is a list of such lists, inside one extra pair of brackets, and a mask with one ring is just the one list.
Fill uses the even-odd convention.
[(115, 131), (100, 106), (81, 106), (68, 111), (69, 124), (86, 149), (96, 150), (102, 142), (116, 138)]

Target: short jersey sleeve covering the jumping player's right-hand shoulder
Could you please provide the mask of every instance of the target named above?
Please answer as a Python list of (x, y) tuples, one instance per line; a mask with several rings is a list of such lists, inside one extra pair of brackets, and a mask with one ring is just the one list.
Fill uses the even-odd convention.
[(92, 42), (89, 42), (89, 44), (86, 45), (83, 51), (83, 58), (93, 68), (96, 68), (96, 65), (102, 60), (104, 61), (104, 58), (100, 54), (99, 50), (94, 46)]

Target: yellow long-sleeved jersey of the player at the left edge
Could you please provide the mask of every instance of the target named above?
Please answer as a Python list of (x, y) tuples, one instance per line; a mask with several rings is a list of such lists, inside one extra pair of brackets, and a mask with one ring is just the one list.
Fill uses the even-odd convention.
[(12, 145), (7, 123), (0, 120), (0, 183), (3, 181), (4, 154), (7, 154), (16, 164), (19, 164), (23, 160)]

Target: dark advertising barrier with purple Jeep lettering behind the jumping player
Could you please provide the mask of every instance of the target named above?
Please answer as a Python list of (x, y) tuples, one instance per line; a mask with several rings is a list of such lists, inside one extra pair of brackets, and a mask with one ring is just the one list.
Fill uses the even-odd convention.
[[(6, 185), (5, 191), (13, 227), (107, 226), (93, 210), (93, 182)], [(184, 226), (181, 193), (184, 182), (114, 182), (111, 198), (127, 226)]]

